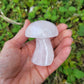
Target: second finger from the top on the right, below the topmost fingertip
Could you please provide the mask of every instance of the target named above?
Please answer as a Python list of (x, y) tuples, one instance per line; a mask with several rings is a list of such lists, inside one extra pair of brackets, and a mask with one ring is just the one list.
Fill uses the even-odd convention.
[(71, 35), (72, 31), (70, 29), (62, 31), (58, 37), (52, 40), (53, 48), (57, 47), (64, 38), (71, 37)]

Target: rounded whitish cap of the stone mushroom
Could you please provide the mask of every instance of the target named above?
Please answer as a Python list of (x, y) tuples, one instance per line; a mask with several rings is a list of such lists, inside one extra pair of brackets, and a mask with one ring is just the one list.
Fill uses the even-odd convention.
[(45, 20), (31, 23), (25, 31), (25, 36), (30, 38), (51, 38), (57, 35), (56, 25)]

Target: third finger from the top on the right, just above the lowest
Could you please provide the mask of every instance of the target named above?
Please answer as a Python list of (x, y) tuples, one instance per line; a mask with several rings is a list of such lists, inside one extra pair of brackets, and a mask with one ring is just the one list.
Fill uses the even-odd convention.
[(55, 56), (57, 56), (57, 54), (66, 46), (71, 46), (73, 39), (70, 37), (67, 37), (65, 39), (62, 40), (62, 42), (60, 43), (60, 45), (55, 49)]

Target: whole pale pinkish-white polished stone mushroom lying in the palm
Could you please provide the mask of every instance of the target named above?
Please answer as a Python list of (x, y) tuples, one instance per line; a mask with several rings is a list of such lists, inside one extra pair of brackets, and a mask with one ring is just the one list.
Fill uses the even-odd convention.
[(32, 57), (34, 64), (40, 66), (49, 66), (52, 64), (54, 52), (50, 38), (57, 35), (58, 30), (56, 25), (49, 21), (35, 21), (27, 27), (25, 36), (36, 38), (36, 48)]

